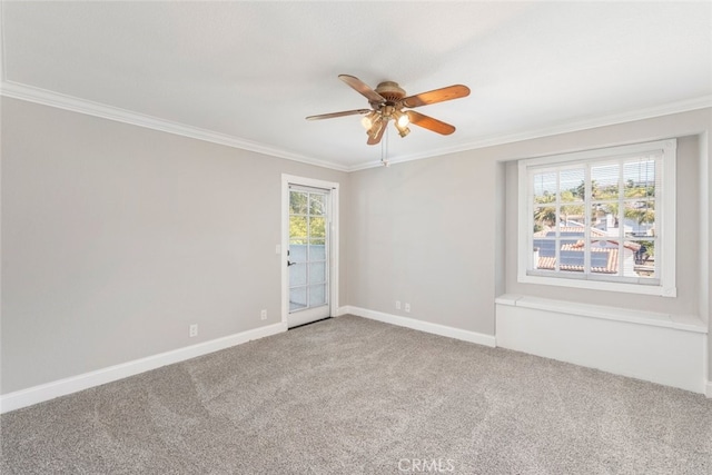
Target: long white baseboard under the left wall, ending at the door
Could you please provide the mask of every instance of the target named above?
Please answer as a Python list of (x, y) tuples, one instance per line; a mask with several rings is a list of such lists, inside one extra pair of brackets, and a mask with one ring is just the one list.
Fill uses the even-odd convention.
[(27, 389), (3, 394), (0, 396), (0, 414), (33, 404), (50, 400), (59, 396), (65, 396), (90, 387), (111, 383), (118, 379), (145, 373), (161, 366), (184, 362), (197, 356), (207, 355), (220, 349), (230, 348), (244, 343), (276, 335), (287, 330), (286, 323), (278, 323), (255, 328), (247, 331), (229, 335), (222, 338), (211, 339), (197, 345), (186, 346), (171, 352), (161, 353), (132, 362), (121, 363), (107, 368), (97, 369), (77, 376), (46, 383)]

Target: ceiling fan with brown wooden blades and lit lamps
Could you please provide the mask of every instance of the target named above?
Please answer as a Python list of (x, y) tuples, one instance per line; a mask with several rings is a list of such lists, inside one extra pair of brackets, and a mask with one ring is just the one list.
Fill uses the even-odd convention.
[(366, 128), (366, 133), (368, 135), (366, 144), (368, 145), (376, 145), (380, 141), (390, 119), (393, 119), (400, 137), (405, 137), (411, 132), (408, 123), (448, 136), (455, 131), (454, 126), (425, 116), (421, 112), (416, 112), (415, 110), (404, 110), (404, 108), (427, 106), (428, 103), (443, 102), (469, 96), (469, 88), (463, 85), (448, 86), (446, 88), (406, 97), (405, 90), (400, 88), (397, 82), (384, 81), (374, 90), (354, 76), (339, 75), (338, 78), (368, 99), (370, 109), (354, 109), (342, 112), (322, 113), (318, 116), (309, 116), (306, 119), (318, 120), (363, 115), (362, 125)]

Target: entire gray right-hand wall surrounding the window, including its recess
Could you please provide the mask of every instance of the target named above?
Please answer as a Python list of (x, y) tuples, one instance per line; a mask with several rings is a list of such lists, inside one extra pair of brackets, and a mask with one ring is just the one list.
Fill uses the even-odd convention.
[[(353, 172), (348, 303), (490, 335), (493, 300), (503, 293), (706, 321), (712, 180), (703, 132), (711, 127), (711, 110), (703, 109)], [(515, 160), (662, 138), (680, 138), (678, 297), (518, 284)], [(396, 310), (395, 300), (409, 301), (412, 313)]]

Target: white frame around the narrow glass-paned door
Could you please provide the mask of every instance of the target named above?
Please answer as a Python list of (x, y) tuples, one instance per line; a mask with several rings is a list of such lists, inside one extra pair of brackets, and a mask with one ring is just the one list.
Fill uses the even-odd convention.
[(288, 325), (289, 316), (289, 269), (287, 268), (287, 250), (289, 249), (289, 185), (329, 190), (329, 315), (336, 315), (336, 311), (338, 309), (339, 184), (336, 181), (325, 181), (318, 180), (316, 178), (281, 174), (281, 245), (279, 253), (279, 264), (281, 266), (281, 321), (285, 325)]

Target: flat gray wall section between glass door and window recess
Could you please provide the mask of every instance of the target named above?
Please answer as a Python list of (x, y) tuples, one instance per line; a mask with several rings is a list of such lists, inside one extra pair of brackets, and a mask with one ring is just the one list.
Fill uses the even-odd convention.
[(496, 168), (467, 151), (352, 172), (349, 305), (493, 335)]

